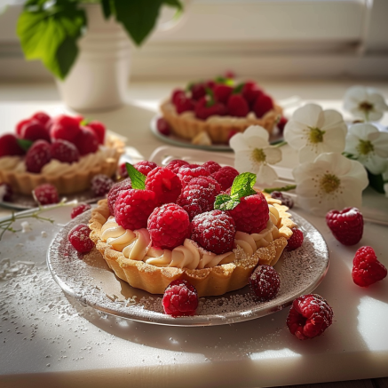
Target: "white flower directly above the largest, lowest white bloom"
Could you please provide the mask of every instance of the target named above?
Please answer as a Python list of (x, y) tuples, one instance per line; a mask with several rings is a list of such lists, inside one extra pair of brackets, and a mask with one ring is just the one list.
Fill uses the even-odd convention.
[(313, 162), (325, 152), (344, 151), (346, 124), (336, 110), (307, 104), (298, 108), (284, 128), (284, 139), (299, 151), (299, 162)]

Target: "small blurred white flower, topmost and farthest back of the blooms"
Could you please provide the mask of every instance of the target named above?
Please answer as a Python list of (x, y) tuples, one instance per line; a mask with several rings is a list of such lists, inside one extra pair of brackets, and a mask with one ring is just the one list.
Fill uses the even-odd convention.
[(376, 89), (352, 86), (344, 93), (344, 109), (355, 117), (374, 122), (383, 117), (388, 106)]

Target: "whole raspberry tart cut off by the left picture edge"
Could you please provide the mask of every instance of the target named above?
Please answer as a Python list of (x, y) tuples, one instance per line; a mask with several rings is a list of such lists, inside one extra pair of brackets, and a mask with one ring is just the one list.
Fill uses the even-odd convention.
[(96, 175), (115, 174), (123, 147), (102, 123), (38, 112), (0, 137), (0, 182), (18, 194), (30, 195), (43, 184), (59, 194), (79, 193)]

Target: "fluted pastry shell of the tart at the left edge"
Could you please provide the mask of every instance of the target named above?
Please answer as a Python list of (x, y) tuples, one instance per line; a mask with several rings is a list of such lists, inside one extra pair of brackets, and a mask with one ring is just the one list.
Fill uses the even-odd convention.
[(95, 166), (56, 175), (0, 169), (0, 182), (9, 184), (14, 193), (27, 195), (30, 195), (36, 186), (45, 183), (55, 186), (59, 194), (74, 194), (89, 190), (91, 178), (94, 176), (104, 174), (112, 177), (115, 174), (120, 156), (124, 151), (124, 144), (121, 139), (111, 137), (107, 146), (115, 152)]

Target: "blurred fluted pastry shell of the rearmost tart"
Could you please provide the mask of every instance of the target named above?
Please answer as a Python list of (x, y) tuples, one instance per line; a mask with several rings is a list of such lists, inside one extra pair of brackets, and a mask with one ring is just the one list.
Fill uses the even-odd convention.
[(210, 116), (207, 120), (200, 120), (194, 116), (193, 112), (178, 115), (174, 105), (167, 100), (162, 103), (161, 111), (164, 119), (170, 124), (171, 131), (179, 138), (193, 140), (201, 132), (207, 132), (213, 144), (227, 144), (231, 131), (243, 132), (250, 125), (260, 125), (272, 133), (282, 109), (275, 105), (273, 110), (261, 118), (249, 115), (247, 117)]

